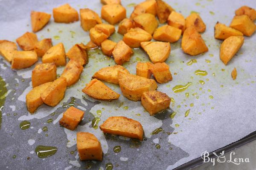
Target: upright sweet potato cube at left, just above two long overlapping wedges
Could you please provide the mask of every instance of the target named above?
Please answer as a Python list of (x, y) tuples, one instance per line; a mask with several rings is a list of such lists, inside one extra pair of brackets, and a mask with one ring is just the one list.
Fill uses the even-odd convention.
[(40, 63), (32, 71), (32, 86), (36, 87), (57, 78), (57, 67), (54, 63)]

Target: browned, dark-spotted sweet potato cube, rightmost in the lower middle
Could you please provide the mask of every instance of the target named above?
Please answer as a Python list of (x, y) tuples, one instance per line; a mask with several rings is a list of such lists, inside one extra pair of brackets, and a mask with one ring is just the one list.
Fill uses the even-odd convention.
[(154, 115), (170, 106), (171, 98), (168, 95), (158, 91), (144, 92), (141, 97), (141, 104), (149, 112)]

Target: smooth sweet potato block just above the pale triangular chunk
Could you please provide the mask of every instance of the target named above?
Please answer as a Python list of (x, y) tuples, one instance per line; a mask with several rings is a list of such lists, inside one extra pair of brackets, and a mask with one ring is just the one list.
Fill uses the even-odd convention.
[(153, 38), (158, 41), (174, 43), (180, 39), (181, 32), (180, 29), (173, 26), (164, 25), (156, 29)]

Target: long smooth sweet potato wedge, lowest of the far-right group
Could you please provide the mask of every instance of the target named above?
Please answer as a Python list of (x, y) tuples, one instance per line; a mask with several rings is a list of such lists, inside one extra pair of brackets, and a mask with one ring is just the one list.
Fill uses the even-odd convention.
[(244, 43), (244, 37), (231, 36), (223, 41), (220, 49), (221, 61), (227, 65), (227, 63), (234, 57), (236, 52), (241, 48)]

